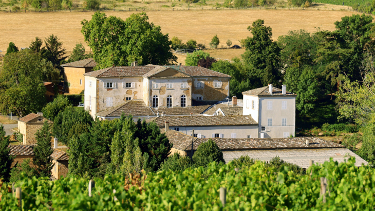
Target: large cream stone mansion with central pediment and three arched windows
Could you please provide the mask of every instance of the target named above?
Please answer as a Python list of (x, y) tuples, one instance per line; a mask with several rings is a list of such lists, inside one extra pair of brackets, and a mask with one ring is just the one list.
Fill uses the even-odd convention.
[(83, 76), (85, 108), (94, 117), (130, 100), (142, 100), (144, 107), (155, 109), (189, 108), (193, 101), (217, 102), (229, 96), (231, 78), (199, 66), (138, 66), (137, 62), (132, 66), (108, 67)]

